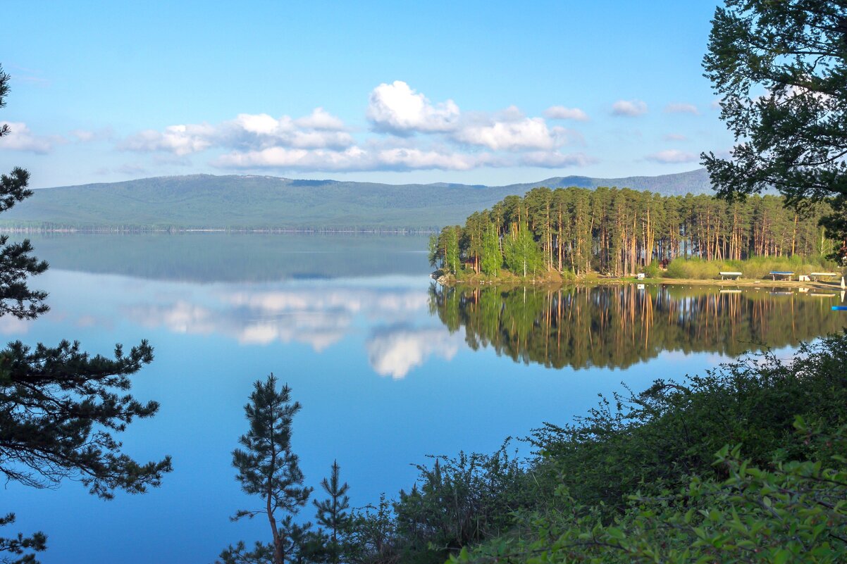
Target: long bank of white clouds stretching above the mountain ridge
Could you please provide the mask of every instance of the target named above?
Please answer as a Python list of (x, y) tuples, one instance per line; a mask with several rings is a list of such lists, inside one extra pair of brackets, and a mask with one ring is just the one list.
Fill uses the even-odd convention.
[[(555, 119), (587, 119), (576, 108), (548, 109)], [(583, 136), (510, 106), (496, 113), (461, 113), (455, 102), (430, 102), (424, 93), (396, 80), (370, 94), (372, 130), (357, 141), (344, 122), (315, 108), (300, 118), (240, 113), (219, 124), (180, 124), (144, 130), (119, 143), (126, 151), (183, 158), (221, 149), (211, 164), (220, 169), (277, 169), (308, 172), (369, 170), (470, 170), (479, 167), (559, 168), (591, 162), (560, 152), (584, 143)], [(412, 135), (417, 134), (417, 135)]]

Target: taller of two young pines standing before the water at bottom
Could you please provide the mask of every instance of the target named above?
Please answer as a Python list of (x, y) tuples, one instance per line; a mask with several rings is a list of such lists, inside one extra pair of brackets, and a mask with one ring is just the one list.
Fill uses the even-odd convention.
[(238, 470), (235, 479), (241, 489), (263, 500), (260, 509), (240, 510), (232, 518), (236, 521), (264, 515), (271, 529), (271, 542), (257, 543), (249, 551), (244, 543), (230, 545), (220, 555), (224, 564), (294, 561), (298, 545), (307, 533), (307, 526), (293, 522), (312, 493), (312, 488), (302, 485), (299, 458), (291, 451), (291, 423), (301, 406), (291, 402), (287, 384), (280, 391), (276, 384), (273, 373), (264, 382), (257, 380), (253, 384), (250, 401), (244, 406), (250, 430), (239, 440), (243, 450), (232, 451), (232, 465)]

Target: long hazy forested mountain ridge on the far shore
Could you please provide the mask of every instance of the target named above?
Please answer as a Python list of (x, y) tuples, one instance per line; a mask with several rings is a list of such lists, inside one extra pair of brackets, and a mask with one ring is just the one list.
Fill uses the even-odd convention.
[(554, 177), (505, 186), (387, 185), (191, 174), (43, 188), (0, 225), (80, 229), (436, 229), (533, 188), (617, 186), (666, 196), (711, 192), (706, 169), (662, 176)]

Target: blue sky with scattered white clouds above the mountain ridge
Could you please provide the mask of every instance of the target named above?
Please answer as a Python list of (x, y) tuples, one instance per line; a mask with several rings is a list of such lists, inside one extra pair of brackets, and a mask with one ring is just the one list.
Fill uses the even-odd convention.
[(669, 174), (732, 137), (715, 2), (6, 0), (0, 170), (501, 185)]

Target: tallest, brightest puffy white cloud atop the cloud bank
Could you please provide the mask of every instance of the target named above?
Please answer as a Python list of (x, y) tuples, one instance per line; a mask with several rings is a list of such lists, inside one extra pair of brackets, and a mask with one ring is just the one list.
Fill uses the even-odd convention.
[(456, 102), (447, 100), (433, 105), (402, 80), (380, 84), (370, 94), (368, 119), (374, 129), (406, 135), (415, 131), (452, 130), (459, 118)]

